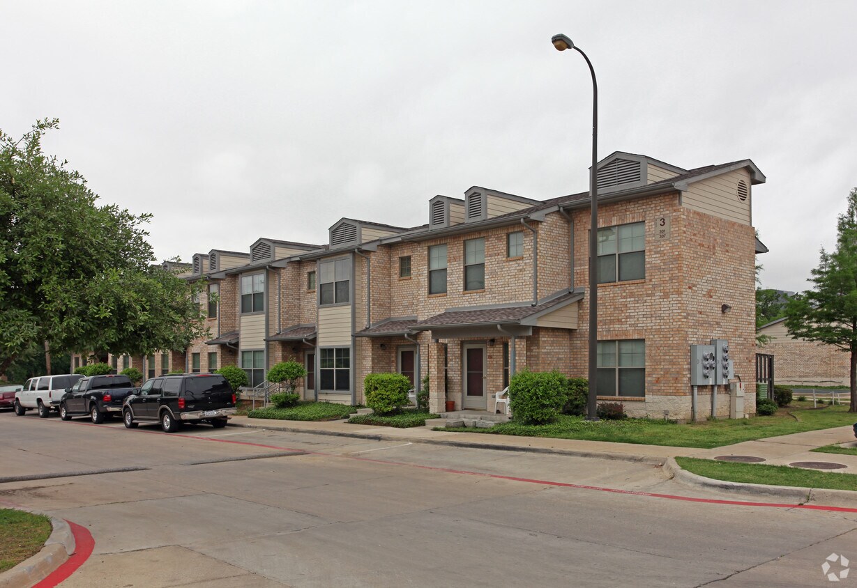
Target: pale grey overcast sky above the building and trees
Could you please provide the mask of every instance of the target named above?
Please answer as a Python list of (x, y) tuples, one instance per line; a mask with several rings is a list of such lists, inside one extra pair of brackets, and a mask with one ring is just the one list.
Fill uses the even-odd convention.
[(589, 187), (599, 152), (751, 158), (765, 288), (802, 290), (857, 186), (857, 2), (0, 2), (0, 128), (103, 203), (151, 212), (159, 260), (415, 226), (474, 185)]

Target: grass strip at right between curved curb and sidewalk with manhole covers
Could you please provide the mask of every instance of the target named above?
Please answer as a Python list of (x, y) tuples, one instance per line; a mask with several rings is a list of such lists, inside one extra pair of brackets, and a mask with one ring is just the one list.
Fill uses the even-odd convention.
[(818, 472), (800, 467), (698, 460), (693, 457), (676, 457), (675, 462), (688, 472), (727, 482), (857, 490), (857, 475), (853, 473)]

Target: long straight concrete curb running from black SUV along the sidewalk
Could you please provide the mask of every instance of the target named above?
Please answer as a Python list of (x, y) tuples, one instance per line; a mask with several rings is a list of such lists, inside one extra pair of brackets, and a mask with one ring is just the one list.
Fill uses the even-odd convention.
[(606, 451), (584, 451), (582, 449), (560, 449), (544, 447), (525, 447), (520, 445), (494, 445), (493, 443), (481, 443), (473, 441), (454, 441), (452, 439), (426, 439), (423, 437), (400, 437), (384, 435), (382, 433), (357, 433), (351, 431), (322, 431), (301, 429), (289, 426), (266, 426), (245, 423), (233, 423), (230, 426), (243, 429), (261, 429), (265, 431), (287, 431), (290, 433), (306, 433), (308, 435), (327, 435), (329, 437), (351, 437), (353, 439), (369, 439), (370, 441), (409, 441), (412, 443), (426, 443), (428, 445), (445, 445), (447, 447), (467, 447), (475, 449), (494, 449), (496, 451), (521, 451), (534, 454), (571, 455), (572, 457), (588, 457), (598, 460), (631, 461), (634, 463), (662, 466), (664, 458), (651, 455), (636, 454), (614, 454)]

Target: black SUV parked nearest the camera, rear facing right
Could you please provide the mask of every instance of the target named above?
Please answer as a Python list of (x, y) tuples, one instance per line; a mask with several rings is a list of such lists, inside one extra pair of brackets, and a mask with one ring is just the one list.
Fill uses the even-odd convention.
[(125, 426), (134, 429), (139, 422), (160, 422), (172, 433), (183, 423), (211, 423), (215, 429), (226, 426), (235, 414), (235, 393), (219, 374), (177, 374), (153, 377), (129, 395), (122, 407)]

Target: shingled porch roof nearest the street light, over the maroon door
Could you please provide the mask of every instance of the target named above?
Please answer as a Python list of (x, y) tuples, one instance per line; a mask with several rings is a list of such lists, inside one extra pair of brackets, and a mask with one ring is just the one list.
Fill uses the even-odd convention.
[(533, 327), (550, 326), (559, 329), (576, 329), (576, 321), (562, 324), (552, 321), (542, 324), (539, 319), (583, 299), (579, 290), (564, 291), (541, 300), (533, 306), (526, 303), (500, 306), (452, 308), (427, 318), (411, 327), (412, 330), (430, 330), (434, 338), (467, 336), (530, 336)]

